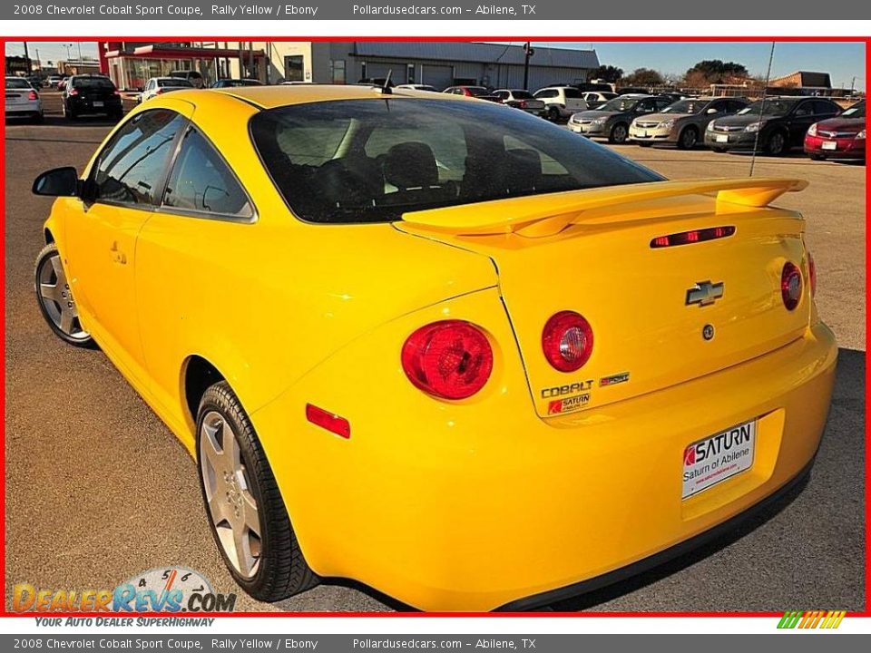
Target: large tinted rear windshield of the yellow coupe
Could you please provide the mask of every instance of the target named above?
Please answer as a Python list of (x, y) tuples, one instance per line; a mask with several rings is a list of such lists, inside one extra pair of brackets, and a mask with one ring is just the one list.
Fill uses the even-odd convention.
[(662, 180), (592, 141), (499, 104), (379, 98), (298, 104), (250, 124), (291, 210), (310, 222)]

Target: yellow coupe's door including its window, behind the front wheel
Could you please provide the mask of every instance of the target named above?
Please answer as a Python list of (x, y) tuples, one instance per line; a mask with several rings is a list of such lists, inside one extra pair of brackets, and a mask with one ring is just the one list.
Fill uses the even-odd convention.
[(85, 327), (138, 375), (142, 345), (136, 318), (136, 239), (160, 200), (167, 166), (187, 118), (177, 109), (134, 115), (113, 133), (84, 183), (82, 210), (67, 223), (65, 253)]

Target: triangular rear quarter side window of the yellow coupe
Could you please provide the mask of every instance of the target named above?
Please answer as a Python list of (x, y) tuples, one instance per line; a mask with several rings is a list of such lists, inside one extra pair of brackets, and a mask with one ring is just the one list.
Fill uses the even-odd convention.
[(188, 129), (172, 166), (163, 206), (206, 215), (250, 219), (254, 215), (239, 181), (200, 132)]

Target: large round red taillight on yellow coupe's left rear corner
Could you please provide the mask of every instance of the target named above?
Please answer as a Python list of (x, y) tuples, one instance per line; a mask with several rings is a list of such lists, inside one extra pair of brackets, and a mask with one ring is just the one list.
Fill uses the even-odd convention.
[(490, 378), (493, 349), (473, 324), (434, 322), (408, 336), (402, 346), (402, 369), (411, 383), (429, 395), (465, 399)]

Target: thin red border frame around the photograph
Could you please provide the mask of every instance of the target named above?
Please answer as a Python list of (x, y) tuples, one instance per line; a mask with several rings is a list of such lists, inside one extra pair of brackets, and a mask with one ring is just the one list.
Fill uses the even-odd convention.
[[(385, 22), (380, 23), (384, 25)], [(183, 36), (173, 34), (172, 38), (191, 41), (227, 41), (231, 40), (230, 36), (215, 36), (209, 34), (197, 34), (192, 36)], [(594, 43), (767, 43), (776, 41), (778, 43), (864, 43), (866, 46), (866, 93), (868, 92), (868, 82), (871, 81), (871, 37), (867, 36), (839, 36), (834, 38), (825, 38), (821, 36), (652, 36), (641, 38), (637, 36), (593, 36), (585, 34), (582, 36), (449, 36), (444, 38), (436, 38), (433, 36), (353, 36), (353, 35), (336, 35), (336, 36), (269, 36), (260, 35), (254, 36), (247, 34), (245, 36), (237, 36), (237, 39), (245, 41), (311, 41), (311, 42), (327, 42), (327, 41), (442, 41), (442, 42), (468, 42), (468, 41), (537, 41), (546, 43), (561, 43), (561, 42), (588, 42)], [(11, 38), (8, 36), (0, 36), (0, 44), (4, 46), (9, 43), (21, 43), (24, 41), (41, 43), (69, 43), (69, 42), (98, 42), (98, 41), (162, 41), (166, 39), (166, 35), (147, 36), (147, 35), (127, 35), (127, 36), (79, 36), (77, 38), (64, 38), (59, 36), (19, 36)], [(0, 89), (4, 88), (4, 83), (0, 83)], [(0, 209), (3, 210), (3, 216), (0, 218), (0, 225), (3, 229), (0, 230), (0, 249), (3, 250), (5, 260), (5, 122), (0, 123), (0, 190), (4, 190), (0, 195)], [(865, 236), (865, 272), (871, 268), (871, 238), (867, 229), (868, 215), (871, 214), (871, 173), (866, 166), (866, 236)], [(0, 285), (3, 286), (4, 293), (0, 296), (0, 308), (4, 309), (5, 317), (5, 265), (0, 266)], [(871, 297), (871, 289), (866, 285), (866, 309), (868, 298)], [(871, 327), (869, 327), (866, 314), (865, 324), (866, 347), (869, 337), (871, 337)], [(5, 324), (0, 330), (0, 347), (5, 352)], [(867, 359), (867, 356), (866, 356)], [(5, 361), (4, 361), (5, 362)], [(868, 381), (871, 380), (866, 365), (866, 386), (865, 399), (866, 406), (871, 391), (868, 388)], [(5, 365), (0, 367), (0, 405), (4, 408), (5, 413)], [(867, 415), (867, 409), (866, 409)], [(871, 567), (868, 565), (868, 559), (871, 558), (871, 451), (869, 451), (869, 438), (871, 429), (867, 424), (865, 432), (865, 610), (862, 612), (847, 612), (847, 617), (871, 617)], [(5, 421), (2, 430), (3, 447), (0, 447), (0, 464), (3, 466), (4, 473), (0, 476), (0, 514), (3, 519), (0, 520), (0, 549), (3, 555), (0, 556), (0, 580), (5, 587)], [(813, 607), (813, 606), (808, 606)], [(818, 606), (817, 606), (818, 607)], [(791, 606), (784, 606), (784, 609)], [(5, 599), (0, 604), (0, 619), (2, 618), (22, 618), (34, 617), (34, 612), (8, 612), (6, 610)], [(42, 616), (42, 615), (39, 615)], [(779, 618), (782, 617), (782, 612), (201, 612), (193, 615), (187, 613), (185, 615), (169, 615), (165, 612), (142, 612), (131, 614), (120, 613), (104, 613), (104, 612), (52, 612), (46, 613), (46, 616), (52, 617), (171, 617), (180, 616), (181, 619), (191, 617), (220, 617), (220, 618), (239, 618), (239, 617), (259, 617), (259, 618), (275, 618), (275, 617), (326, 617), (326, 618), (407, 618), (407, 617), (423, 617), (423, 618), (444, 618), (444, 617), (495, 617), (495, 618), (535, 618), (535, 619), (552, 619), (556, 618), (624, 618), (624, 617), (758, 617), (758, 618)]]

